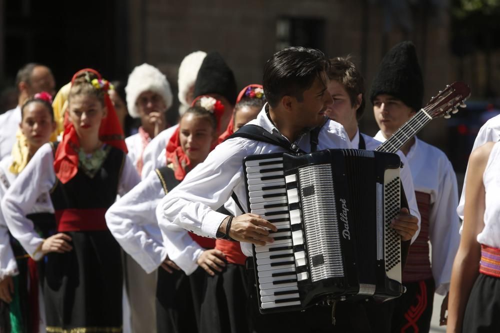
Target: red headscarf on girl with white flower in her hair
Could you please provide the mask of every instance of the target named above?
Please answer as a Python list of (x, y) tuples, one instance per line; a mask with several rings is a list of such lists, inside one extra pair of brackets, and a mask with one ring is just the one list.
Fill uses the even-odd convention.
[[(215, 100), (215, 103), (213, 104), (213, 115), (215, 116), (215, 120), (217, 122), (217, 128), (220, 124), (220, 118), (222, 117), (222, 114), (224, 114), (224, 105), (218, 100), (210, 96), (205, 96), (201, 95), (196, 97), (192, 103), (191, 106), (194, 106), (195, 103), (200, 100), (202, 97), (207, 97)], [(210, 111), (210, 110), (209, 110)], [(180, 126), (177, 127), (173, 135), (170, 137), (170, 140), (168, 140), (168, 143), (166, 144), (166, 162), (167, 163), (173, 163), (174, 165), (174, 174), (175, 174), (175, 179), (181, 181), (184, 179), (186, 175), (186, 169), (190, 166), (190, 161), (187, 155), (184, 153), (182, 150), (182, 147), (180, 146)], [(217, 143), (215, 143), (211, 149), (215, 148)], [(210, 149), (210, 150), (211, 150)]]

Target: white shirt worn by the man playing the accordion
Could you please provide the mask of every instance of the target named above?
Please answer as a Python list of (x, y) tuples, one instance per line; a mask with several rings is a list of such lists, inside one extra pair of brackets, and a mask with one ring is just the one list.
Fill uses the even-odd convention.
[[(265, 108), (265, 106), (264, 106)], [(271, 132), (277, 131), (268, 119), (264, 108), (255, 124)], [(284, 137), (283, 137), (284, 138)], [(328, 148), (351, 148), (350, 141), (342, 125), (328, 121), (320, 130), (318, 150)], [(305, 134), (298, 146), (310, 151), (309, 134)], [(285, 149), (269, 143), (244, 138), (232, 138), (219, 144), (205, 159), (191, 170), (184, 180), (168, 193), (158, 205), (156, 216), (160, 229), (168, 237), (170, 223), (181, 226), (200, 236), (215, 237), (217, 229), (226, 215), (215, 212), (234, 192), (244, 210), (246, 190), (243, 178), (243, 158), (248, 155), (284, 152)], [(243, 214), (235, 207), (227, 207), (234, 216)], [(166, 242), (168, 243), (168, 242)], [(168, 245), (167, 245), (167, 250)], [(251, 244), (242, 243), (241, 250), (251, 256)]]

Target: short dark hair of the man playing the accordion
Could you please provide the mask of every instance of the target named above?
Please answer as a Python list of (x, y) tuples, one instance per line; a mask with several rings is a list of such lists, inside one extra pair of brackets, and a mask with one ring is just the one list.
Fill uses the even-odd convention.
[(303, 92), (315, 78), (322, 80), (321, 73), (329, 66), (324, 53), (314, 48), (292, 46), (277, 51), (264, 65), (262, 85), (267, 102), (275, 107), (283, 96), (302, 101)]

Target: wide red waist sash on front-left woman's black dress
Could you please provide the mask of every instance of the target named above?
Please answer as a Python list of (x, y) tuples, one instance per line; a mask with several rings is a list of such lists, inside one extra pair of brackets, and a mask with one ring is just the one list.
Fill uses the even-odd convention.
[(57, 232), (108, 230), (104, 218), (106, 211), (107, 208), (56, 210)]

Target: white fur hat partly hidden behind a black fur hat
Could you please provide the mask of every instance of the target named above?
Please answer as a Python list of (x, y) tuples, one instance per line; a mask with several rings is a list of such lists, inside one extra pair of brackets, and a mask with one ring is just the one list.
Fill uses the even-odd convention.
[[(177, 97), (181, 104), (190, 106), (186, 100), (186, 94), (191, 87), (194, 87), (194, 82), (196, 81), (196, 76), (198, 75), (199, 67), (206, 56), (206, 52), (195, 51), (189, 53), (182, 59), (179, 66), (179, 74), (177, 85), (179, 87), (179, 93)], [(196, 96), (193, 96), (196, 97)]]

